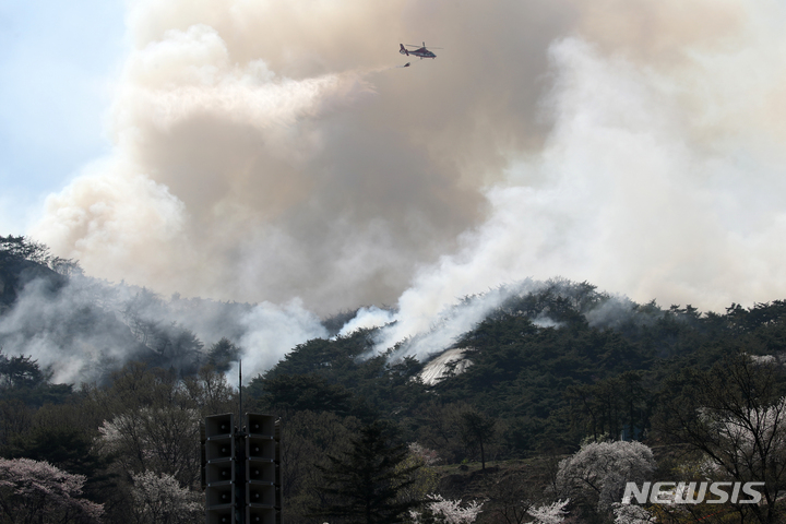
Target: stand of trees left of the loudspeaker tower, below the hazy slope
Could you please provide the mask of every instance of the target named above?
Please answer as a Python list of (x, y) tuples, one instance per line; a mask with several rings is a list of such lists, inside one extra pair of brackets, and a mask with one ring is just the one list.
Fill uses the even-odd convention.
[[(196, 522), (200, 420), (237, 408), (223, 374), (132, 362), (109, 385), (40, 377), (35, 361), (0, 355), (0, 522)], [(71, 490), (36, 495), (43, 485)]]

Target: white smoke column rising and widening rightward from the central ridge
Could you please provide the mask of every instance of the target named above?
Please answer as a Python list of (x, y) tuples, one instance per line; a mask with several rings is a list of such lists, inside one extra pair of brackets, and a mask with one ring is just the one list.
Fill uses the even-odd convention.
[[(486, 294), (434, 329), (457, 297), (523, 276), (561, 275), (713, 307), (784, 289), (773, 254), (786, 214), (769, 195), (786, 189), (775, 152), (745, 140), (727, 147), (729, 135), (708, 140), (684, 114), (686, 97), (699, 100), (681, 91), (683, 74), (604, 57), (577, 38), (556, 43), (550, 56), (555, 87), (544, 109), (555, 126), (546, 146), (512, 163), (505, 182), (486, 191), (489, 218), (462, 237), (456, 254), (418, 273), (379, 348), (407, 337), (419, 356), (448, 347), (504, 299)], [(740, 66), (737, 57), (712, 58), (718, 68)], [(728, 90), (714, 92), (712, 75), (693, 80), (716, 97)], [(700, 107), (694, 118), (717, 110)], [(742, 139), (749, 132), (728, 130)]]

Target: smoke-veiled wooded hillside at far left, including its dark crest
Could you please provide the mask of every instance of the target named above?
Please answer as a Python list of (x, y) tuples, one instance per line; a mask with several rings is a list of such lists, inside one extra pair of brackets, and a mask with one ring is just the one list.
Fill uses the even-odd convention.
[(24, 237), (0, 236), (0, 348), (35, 354), (58, 382), (108, 383), (128, 361), (194, 374), (213, 345), (241, 337), (251, 309), (165, 300), (143, 287), (87, 277), (76, 262)]

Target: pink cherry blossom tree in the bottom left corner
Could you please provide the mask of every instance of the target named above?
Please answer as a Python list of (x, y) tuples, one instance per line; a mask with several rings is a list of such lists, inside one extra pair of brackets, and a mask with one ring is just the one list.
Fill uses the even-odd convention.
[(97, 524), (102, 504), (82, 499), (85, 477), (29, 458), (0, 458), (0, 522)]

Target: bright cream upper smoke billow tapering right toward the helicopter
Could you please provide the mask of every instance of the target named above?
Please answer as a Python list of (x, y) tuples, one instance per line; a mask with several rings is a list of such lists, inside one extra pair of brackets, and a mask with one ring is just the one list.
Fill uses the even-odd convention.
[(148, 122), (166, 130), (194, 115), (215, 115), (267, 131), (283, 157), (309, 150), (293, 140), (298, 121), (372, 93), (352, 71), (296, 81), (277, 79), (263, 60), (231, 63), (226, 43), (205, 24), (165, 32), (130, 57), (126, 76), (115, 105), (120, 133)]

